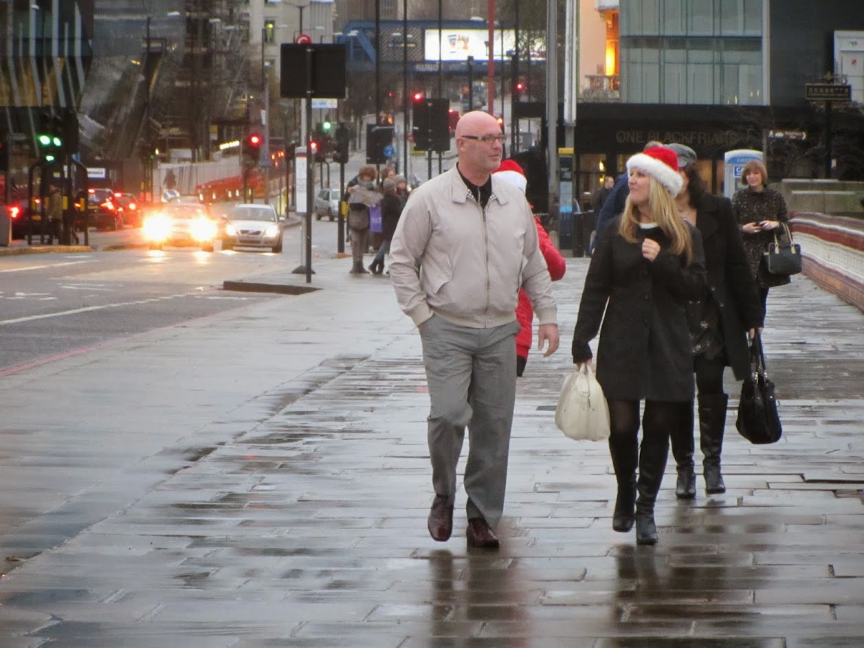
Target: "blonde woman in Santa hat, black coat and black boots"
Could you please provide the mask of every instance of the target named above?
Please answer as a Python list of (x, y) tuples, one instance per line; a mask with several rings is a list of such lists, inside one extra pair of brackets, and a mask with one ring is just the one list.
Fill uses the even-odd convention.
[(675, 152), (647, 149), (627, 161), (627, 171), (624, 213), (600, 233), (588, 267), (573, 361), (581, 365), (591, 359), (588, 342), (602, 321), (597, 380), (609, 403), (609, 451), (618, 483), (612, 525), (629, 531), (635, 520), (636, 542), (654, 544), (654, 502), (669, 432), (693, 399), (685, 307), (704, 294), (704, 259), (699, 232), (678, 216), (673, 202), (683, 183)]

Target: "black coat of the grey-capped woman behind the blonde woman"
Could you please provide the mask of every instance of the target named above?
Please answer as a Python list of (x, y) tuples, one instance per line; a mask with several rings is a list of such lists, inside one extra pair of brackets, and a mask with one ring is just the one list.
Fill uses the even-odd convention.
[(736, 379), (743, 380), (750, 371), (746, 332), (761, 327), (765, 314), (732, 203), (727, 198), (702, 194), (696, 205), (696, 229), (702, 234), (708, 290), (720, 308), (727, 365)]

